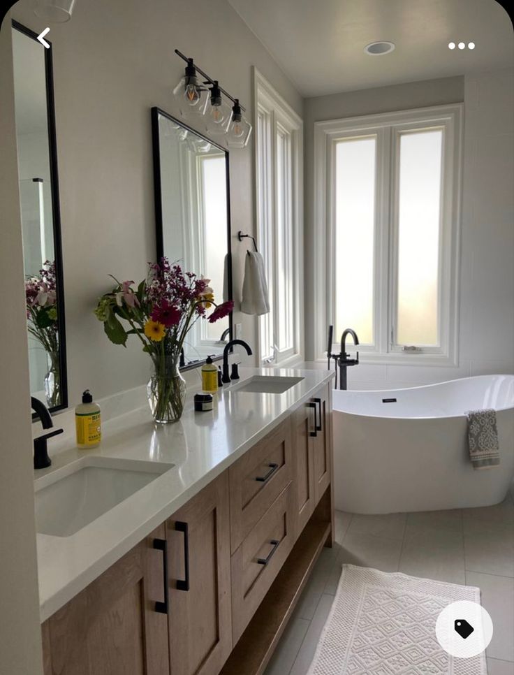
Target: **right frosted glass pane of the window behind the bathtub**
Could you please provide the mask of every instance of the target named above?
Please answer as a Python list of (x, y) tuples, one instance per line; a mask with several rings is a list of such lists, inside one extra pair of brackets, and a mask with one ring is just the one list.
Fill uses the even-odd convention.
[(439, 344), (442, 129), (399, 143), (397, 344)]

